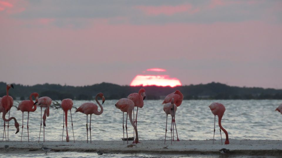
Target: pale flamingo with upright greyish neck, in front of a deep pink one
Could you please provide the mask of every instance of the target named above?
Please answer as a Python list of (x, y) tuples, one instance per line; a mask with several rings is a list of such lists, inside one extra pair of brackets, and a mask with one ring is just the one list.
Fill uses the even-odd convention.
[[(164, 104), (164, 112), (165, 114), (170, 114), (171, 115), (171, 125), (170, 125), (170, 134), (172, 137), (172, 126), (173, 126), (173, 117), (175, 116), (175, 112), (177, 110), (177, 106), (174, 104), (174, 98), (171, 99), (170, 103)], [(176, 127), (175, 127), (176, 129)], [(165, 124), (165, 136), (164, 136), (164, 144), (165, 140), (167, 138), (167, 122)], [(172, 145), (172, 138), (171, 138), (171, 145)]]

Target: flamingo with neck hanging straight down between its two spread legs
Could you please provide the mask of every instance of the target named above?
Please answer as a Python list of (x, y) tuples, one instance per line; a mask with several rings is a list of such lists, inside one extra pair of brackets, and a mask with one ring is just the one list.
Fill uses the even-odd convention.
[[(62, 106), (62, 109), (64, 111), (63, 121), (64, 121), (64, 118), (66, 120), (66, 132), (67, 132), (66, 140), (67, 140), (67, 142), (69, 142), (70, 138), (68, 137), (68, 110), (70, 110), (71, 126), (73, 128), (73, 118), (71, 117), (71, 108), (73, 107), (73, 100), (72, 99), (63, 99), (61, 106)], [(66, 115), (66, 117), (65, 117), (65, 115)], [(64, 124), (65, 124), (65, 122), (63, 122), (63, 134), (64, 134)], [(63, 134), (62, 134), (62, 142), (63, 142)], [(75, 142), (74, 133), (73, 133), (73, 142)]]

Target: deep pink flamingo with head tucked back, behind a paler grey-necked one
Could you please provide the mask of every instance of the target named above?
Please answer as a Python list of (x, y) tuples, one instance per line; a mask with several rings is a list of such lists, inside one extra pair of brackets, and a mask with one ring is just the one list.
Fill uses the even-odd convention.
[[(182, 93), (179, 91), (179, 90), (176, 90), (175, 92), (167, 95), (165, 98), (164, 98), (164, 102), (162, 102), (162, 104), (166, 104), (166, 103), (170, 103), (172, 98), (174, 98), (174, 104), (179, 107), (183, 101), (183, 95)], [(175, 126), (175, 130), (176, 130), (176, 135), (177, 135), (177, 141), (180, 141), (178, 139), (178, 134), (177, 134), (177, 129), (176, 129), (176, 124), (175, 124), (175, 115), (174, 115), (174, 118), (173, 118), (173, 122), (174, 122), (174, 126)], [(173, 124), (172, 122), (172, 124)], [(172, 141), (174, 141), (174, 126), (172, 126), (172, 129), (173, 129), (173, 136), (172, 136)]]

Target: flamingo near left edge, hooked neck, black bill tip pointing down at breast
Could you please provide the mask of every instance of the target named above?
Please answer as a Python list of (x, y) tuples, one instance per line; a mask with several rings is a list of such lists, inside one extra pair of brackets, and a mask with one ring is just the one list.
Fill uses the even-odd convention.
[[(35, 102), (32, 100), (32, 96), (35, 97)], [(23, 137), (23, 129), (24, 129), (24, 112), (27, 112), (27, 136), (29, 142), (29, 133), (28, 133), (28, 119), (29, 119), (29, 112), (34, 112), (36, 110), (36, 104), (38, 102), (38, 93), (31, 93), (29, 96), (29, 100), (23, 100), (20, 102), (18, 110), (21, 110), (23, 113), (23, 125), (21, 126), (21, 140)]]

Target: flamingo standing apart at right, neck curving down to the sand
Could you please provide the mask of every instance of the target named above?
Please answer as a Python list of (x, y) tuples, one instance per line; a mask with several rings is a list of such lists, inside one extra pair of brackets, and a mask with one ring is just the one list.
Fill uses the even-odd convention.
[[(221, 137), (221, 130), (223, 130), (223, 132), (226, 135), (226, 140), (224, 144), (229, 144), (229, 140), (228, 140), (228, 133), (227, 131), (221, 126), (221, 119), (222, 116), (224, 114), (225, 111), (225, 107), (223, 104), (221, 103), (212, 103), (209, 108), (212, 110), (212, 113), (214, 114), (214, 133), (215, 133), (215, 116), (218, 116), (218, 125), (219, 125), (219, 131), (220, 131), (220, 137)], [(214, 144), (214, 139), (212, 141), (212, 144)], [(222, 144), (222, 137), (221, 137), (221, 144)]]

